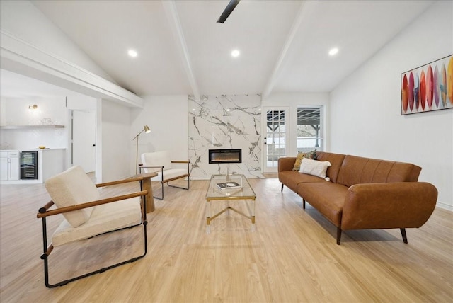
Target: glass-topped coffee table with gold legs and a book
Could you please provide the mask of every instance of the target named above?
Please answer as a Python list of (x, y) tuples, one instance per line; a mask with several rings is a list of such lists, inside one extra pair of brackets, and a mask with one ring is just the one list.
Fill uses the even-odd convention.
[[(233, 210), (239, 215), (251, 219), (252, 230), (255, 230), (255, 199), (256, 194), (245, 176), (212, 175), (206, 193), (206, 233), (210, 234), (211, 232), (211, 221), (229, 210)], [(250, 215), (236, 210), (234, 207), (229, 206), (229, 204), (224, 210), (211, 215), (211, 201), (213, 200), (244, 200)], [(251, 200), (251, 205), (247, 203), (247, 200)]]

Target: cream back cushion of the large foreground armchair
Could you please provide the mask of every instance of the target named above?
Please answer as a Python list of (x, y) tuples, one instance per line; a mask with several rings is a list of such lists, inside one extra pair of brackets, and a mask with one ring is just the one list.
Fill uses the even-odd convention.
[[(45, 188), (57, 207), (99, 200), (98, 188), (80, 166), (73, 166), (67, 171), (48, 178), (45, 181)], [(90, 207), (63, 215), (72, 227), (79, 227), (90, 218), (92, 211)]]

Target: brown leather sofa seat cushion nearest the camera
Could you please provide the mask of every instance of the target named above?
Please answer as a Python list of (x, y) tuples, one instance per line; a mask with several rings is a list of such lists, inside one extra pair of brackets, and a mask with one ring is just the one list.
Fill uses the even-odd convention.
[[(319, 178), (319, 180), (322, 179)], [(343, 205), (347, 193), (348, 188), (346, 186), (327, 181), (299, 183), (297, 185), (297, 194), (316, 210), (319, 210), (336, 227), (341, 226), (341, 216), (343, 215)]]

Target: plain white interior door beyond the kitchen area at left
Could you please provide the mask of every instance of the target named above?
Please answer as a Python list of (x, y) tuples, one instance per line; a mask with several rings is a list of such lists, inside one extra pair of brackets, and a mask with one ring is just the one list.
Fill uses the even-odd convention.
[(96, 169), (96, 115), (91, 111), (72, 111), (72, 166), (79, 165), (86, 173)]

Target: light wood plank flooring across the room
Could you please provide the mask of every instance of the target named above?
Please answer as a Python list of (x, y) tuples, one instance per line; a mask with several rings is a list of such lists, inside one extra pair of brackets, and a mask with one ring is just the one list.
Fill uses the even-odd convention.
[[(436, 209), (423, 227), (408, 229), (408, 244), (392, 229), (346, 231), (338, 246), (336, 228), (311, 206), (302, 210), (288, 188), (281, 193), (277, 178), (250, 183), (255, 231), (229, 212), (206, 234), (208, 181), (192, 181), (190, 190), (166, 186), (165, 200), (148, 214), (147, 256), (54, 289), (44, 285), (40, 260), (44, 185), (1, 185), (0, 302), (452, 302), (452, 212)], [(244, 202), (233, 204), (247, 211)], [(51, 232), (61, 219), (49, 220)], [(55, 248), (50, 282), (139, 255), (141, 232)]]

